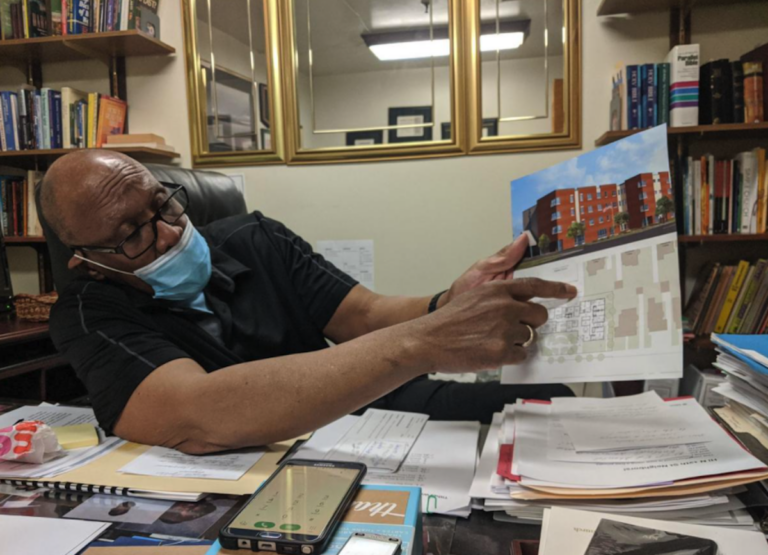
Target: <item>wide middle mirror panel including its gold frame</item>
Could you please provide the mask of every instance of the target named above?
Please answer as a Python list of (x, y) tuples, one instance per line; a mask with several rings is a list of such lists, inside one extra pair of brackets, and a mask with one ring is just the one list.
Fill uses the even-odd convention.
[(288, 163), (466, 152), (462, 1), (281, 1)]

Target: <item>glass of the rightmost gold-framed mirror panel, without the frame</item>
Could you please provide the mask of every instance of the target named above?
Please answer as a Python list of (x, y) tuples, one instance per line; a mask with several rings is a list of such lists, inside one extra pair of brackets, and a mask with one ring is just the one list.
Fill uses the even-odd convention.
[(567, 0), (480, 0), (482, 137), (567, 131)]

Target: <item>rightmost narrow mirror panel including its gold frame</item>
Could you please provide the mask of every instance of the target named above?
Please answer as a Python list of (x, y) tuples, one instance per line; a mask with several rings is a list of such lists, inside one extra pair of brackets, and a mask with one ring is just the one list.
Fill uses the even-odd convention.
[(465, 7), (469, 153), (580, 148), (580, 0)]

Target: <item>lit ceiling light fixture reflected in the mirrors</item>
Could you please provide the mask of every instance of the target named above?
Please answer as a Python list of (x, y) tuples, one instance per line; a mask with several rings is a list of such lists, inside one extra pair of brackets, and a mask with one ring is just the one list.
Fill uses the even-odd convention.
[[(531, 20), (518, 19), (485, 23), (480, 27), (480, 51), (513, 50), (520, 48), (530, 33)], [(381, 61), (439, 58), (451, 53), (447, 27), (436, 27), (430, 40), (429, 29), (385, 31), (361, 35), (366, 46)]]

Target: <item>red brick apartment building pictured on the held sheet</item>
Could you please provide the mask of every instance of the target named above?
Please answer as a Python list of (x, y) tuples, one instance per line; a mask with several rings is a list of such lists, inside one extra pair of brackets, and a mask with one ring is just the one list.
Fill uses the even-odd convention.
[[(558, 189), (523, 211), (523, 228), (537, 239), (547, 235), (548, 250), (561, 251), (607, 239), (620, 230), (641, 229), (669, 220), (673, 214), (656, 216), (656, 201), (662, 196), (673, 200), (667, 172), (642, 173), (621, 185)], [(629, 214), (629, 221), (619, 226), (615, 218), (621, 212)], [(574, 222), (584, 224), (583, 236), (568, 237)]]

